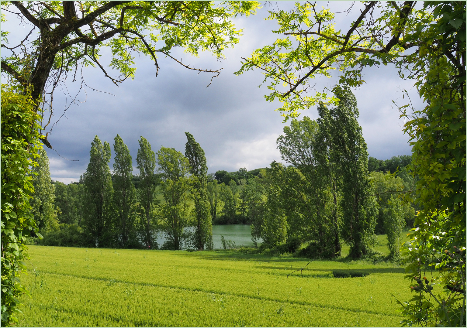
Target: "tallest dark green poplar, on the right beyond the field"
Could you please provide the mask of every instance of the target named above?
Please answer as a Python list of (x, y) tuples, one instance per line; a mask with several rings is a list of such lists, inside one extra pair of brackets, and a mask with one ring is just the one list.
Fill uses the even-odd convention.
[(357, 121), (357, 100), (347, 88), (337, 86), (334, 94), (339, 105), (329, 111), (328, 123), (333, 132), (331, 157), (341, 177), (342, 237), (350, 243), (349, 256), (360, 258), (368, 254), (375, 240), (378, 208), (375, 197), (371, 196), (367, 144)]

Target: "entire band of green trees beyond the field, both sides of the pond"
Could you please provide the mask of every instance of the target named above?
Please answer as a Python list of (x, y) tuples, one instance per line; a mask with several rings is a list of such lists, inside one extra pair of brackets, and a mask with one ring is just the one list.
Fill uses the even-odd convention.
[[(399, 196), (416, 181), (404, 165), (410, 156), (368, 158), (352, 92), (336, 89), (339, 105), (318, 107), (319, 118), (293, 119), (277, 139), (282, 160), (268, 168), (207, 174), (203, 149), (186, 133), (185, 154), (141, 137), (139, 173), (119, 135), (111, 149), (96, 136), (79, 182), (50, 181), (41, 151), (35, 168), (35, 219), (40, 242), (178, 250), (212, 249), (212, 224), (248, 223), (261, 250), (339, 257), (344, 243), (351, 257), (372, 253), (375, 234), (387, 234), (391, 257), (398, 256), (403, 228), (413, 226), (414, 206)], [(194, 231), (186, 229), (194, 227)], [(163, 232), (165, 242), (156, 237)]]

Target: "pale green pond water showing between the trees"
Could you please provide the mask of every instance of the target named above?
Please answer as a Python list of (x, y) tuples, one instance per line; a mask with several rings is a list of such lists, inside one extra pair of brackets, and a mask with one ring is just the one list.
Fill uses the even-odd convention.
[[(194, 231), (193, 227), (186, 228), (189, 231)], [(165, 242), (164, 233), (160, 232), (157, 235), (157, 243), (159, 247)], [(216, 224), (212, 226), (212, 240), (214, 248), (222, 248), (221, 237), (224, 236), (226, 240), (232, 240), (238, 246), (252, 246), (251, 229), (248, 224)], [(261, 238), (257, 239), (258, 244), (261, 244)]]

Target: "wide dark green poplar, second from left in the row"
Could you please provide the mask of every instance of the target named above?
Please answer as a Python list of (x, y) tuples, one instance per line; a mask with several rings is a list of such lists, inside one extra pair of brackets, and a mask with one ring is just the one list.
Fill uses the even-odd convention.
[(89, 164), (82, 180), (85, 185), (83, 221), (97, 246), (108, 245), (111, 243), (113, 214), (112, 176), (108, 165), (110, 145), (107, 141), (102, 144), (95, 136), (89, 154)]

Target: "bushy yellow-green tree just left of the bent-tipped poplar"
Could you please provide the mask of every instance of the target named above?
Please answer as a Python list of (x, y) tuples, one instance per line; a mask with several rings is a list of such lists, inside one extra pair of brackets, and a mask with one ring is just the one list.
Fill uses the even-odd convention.
[(159, 226), (167, 235), (170, 249), (179, 250), (191, 237), (185, 231), (192, 223), (190, 163), (174, 148), (161, 147), (157, 152), (157, 165), (163, 174), (161, 192), (165, 200), (160, 205)]

